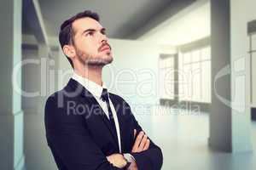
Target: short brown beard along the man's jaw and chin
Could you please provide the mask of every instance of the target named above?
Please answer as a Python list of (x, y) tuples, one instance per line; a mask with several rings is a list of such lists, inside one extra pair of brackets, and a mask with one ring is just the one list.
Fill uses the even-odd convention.
[(83, 51), (80, 51), (79, 49), (77, 49), (76, 53), (78, 55), (79, 61), (83, 65), (87, 66), (104, 66), (112, 63), (113, 61), (113, 57), (110, 53), (105, 54), (104, 56), (93, 56), (90, 54), (85, 54)]

